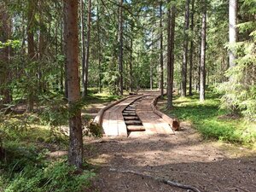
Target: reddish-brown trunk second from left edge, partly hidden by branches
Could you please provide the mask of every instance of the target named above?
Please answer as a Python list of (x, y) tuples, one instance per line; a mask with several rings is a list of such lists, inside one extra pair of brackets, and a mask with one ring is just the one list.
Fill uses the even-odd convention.
[[(28, 1), (28, 14), (27, 14), (27, 54), (30, 62), (34, 61), (35, 58), (35, 43), (34, 43), (34, 34), (32, 32), (32, 28), (35, 23), (35, 2), (32, 0)], [(30, 69), (30, 75), (34, 74), (34, 70)], [(32, 112), (34, 107), (34, 87), (31, 86), (28, 90), (28, 98), (27, 98), (27, 111)]]

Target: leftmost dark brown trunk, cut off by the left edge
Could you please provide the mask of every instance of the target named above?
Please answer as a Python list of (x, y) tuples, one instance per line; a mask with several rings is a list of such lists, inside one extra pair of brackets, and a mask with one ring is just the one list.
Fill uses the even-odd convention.
[[(6, 11), (4, 4), (0, 3), (0, 41), (6, 43), (10, 35), (10, 18)], [(5, 46), (0, 49), (0, 109), (3, 108), (4, 104), (11, 102), (9, 85), (9, 51), (10, 47)]]

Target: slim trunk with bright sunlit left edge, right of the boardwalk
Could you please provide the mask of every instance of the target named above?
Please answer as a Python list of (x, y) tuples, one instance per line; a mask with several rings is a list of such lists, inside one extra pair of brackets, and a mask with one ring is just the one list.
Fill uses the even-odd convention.
[(207, 41), (207, 0), (203, 1), (201, 26), (201, 61), (200, 61), (200, 102), (205, 101), (206, 91), (206, 41)]

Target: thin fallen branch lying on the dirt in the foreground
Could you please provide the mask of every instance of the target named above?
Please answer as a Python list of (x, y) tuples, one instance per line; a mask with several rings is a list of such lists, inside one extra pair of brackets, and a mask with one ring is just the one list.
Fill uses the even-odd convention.
[(170, 186), (177, 187), (177, 188), (188, 189), (188, 190), (192, 190), (194, 192), (201, 192), (199, 189), (197, 189), (193, 186), (182, 184), (182, 183), (177, 183), (177, 182), (174, 182), (174, 181), (170, 181), (170, 180), (167, 180), (167, 179), (162, 178), (162, 177), (154, 177), (154, 176), (151, 176), (151, 175), (146, 175), (146, 174), (143, 174), (142, 172), (134, 172), (134, 171), (131, 171), (131, 170), (117, 170), (117, 169), (109, 169), (109, 171), (110, 172), (119, 172), (119, 173), (131, 173), (131, 174), (138, 175), (138, 176), (141, 176), (141, 177), (148, 177), (148, 178), (154, 179), (154, 181), (157, 181), (157, 182), (160, 182), (160, 183), (165, 183), (165, 184), (168, 184)]

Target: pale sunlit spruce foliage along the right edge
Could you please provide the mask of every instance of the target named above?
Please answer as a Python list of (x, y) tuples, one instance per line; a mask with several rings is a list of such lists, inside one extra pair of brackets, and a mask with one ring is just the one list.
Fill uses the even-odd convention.
[(236, 51), (236, 66), (230, 67), (225, 73), (230, 81), (217, 86), (218, 92), (223, 94), (221, 108), (227, 108), (231, 113), (241, 113), (251, 121), (256, 121), (256, 23), (252, 17), (256, 14), (254, 5), (253, 0), (241, 3), (240, 12), (245, 20), (237, 25), (240, 42), (228, 46)]

